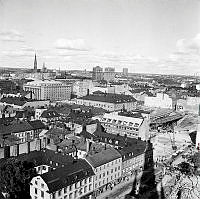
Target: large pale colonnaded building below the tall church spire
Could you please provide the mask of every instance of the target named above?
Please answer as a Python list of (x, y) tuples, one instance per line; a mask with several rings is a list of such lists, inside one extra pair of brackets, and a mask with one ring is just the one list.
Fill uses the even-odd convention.
[(53, 80), (28, 82), (23, 89), (33, 92), (37, 100), (68, 100), (71, 96), (71, 85)]

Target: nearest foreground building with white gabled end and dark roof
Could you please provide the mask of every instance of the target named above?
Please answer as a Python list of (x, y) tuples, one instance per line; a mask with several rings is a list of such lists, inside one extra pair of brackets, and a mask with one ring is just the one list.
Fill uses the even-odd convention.
[(30, 194), (35, 199), (76, 199), (92, 195), (94, 172), (85, 160), (75, 160), (31, 180)]

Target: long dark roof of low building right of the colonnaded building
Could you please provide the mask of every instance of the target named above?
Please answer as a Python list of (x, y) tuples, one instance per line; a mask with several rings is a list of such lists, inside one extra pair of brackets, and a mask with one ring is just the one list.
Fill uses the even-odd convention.
[(137, 100), (130, 95), (122, 95), (122, 94), (111, 94), (111, 93), (104, 93), (99, 95), (86, 95), (79, 99), (83, 100), (91, 100), (97, 102), (108, 102), (108, 103), (125, 103), (125, 102), (136, 102)]

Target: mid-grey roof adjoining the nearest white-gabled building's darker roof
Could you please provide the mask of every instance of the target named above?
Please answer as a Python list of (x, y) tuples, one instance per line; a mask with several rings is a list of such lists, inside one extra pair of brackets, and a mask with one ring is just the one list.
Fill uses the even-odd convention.
[(107, 148), (99, 153), (86, 156), (86, 160), (94, 167), (99, 167), (103, 164), (121, 158), (120, 153), (114, 148)]

